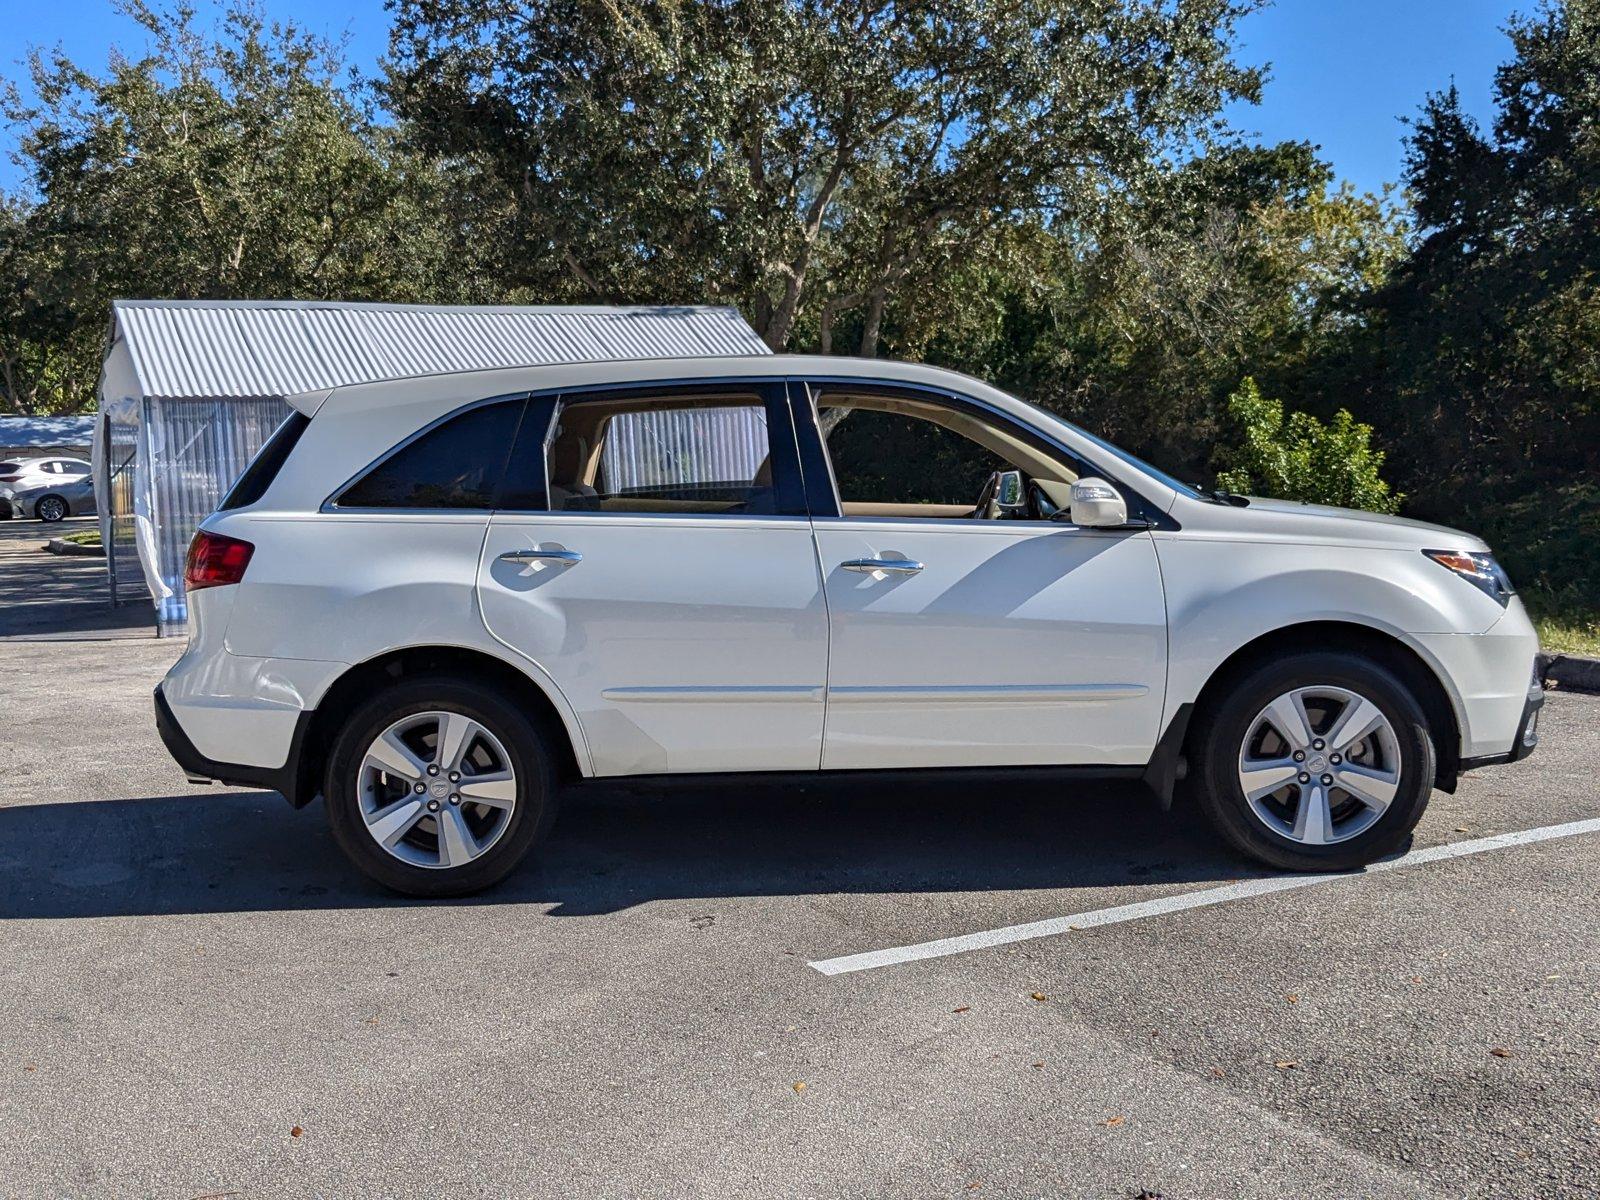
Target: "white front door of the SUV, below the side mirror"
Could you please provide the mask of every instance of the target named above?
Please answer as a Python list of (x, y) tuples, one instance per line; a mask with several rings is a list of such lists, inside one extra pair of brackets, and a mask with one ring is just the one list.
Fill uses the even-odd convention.
[[(824, 406), (827, 387), (814, 392)], [(912, 400), (901, 416), (976, 406), (958, 397)], [(842, 499), (832, 480), (840, 462), (827, 450), (845, 422), (824, 437), (814, 406), (797, 416), (806, 461), (814, 454), (829, 475), (827, 491), (811, 493), (830, 627), (824, 768), (1149, 760), (1166, 677), (1166, 611), (1149, 531), (979, 520), (958, 515), (963, 506), (949, 491), (939, 502), (896, 504), (853, 499), (846, 486)], [(1037, 474), (1070, 478), (1083, 470), (1014, 421), (960, 416), (968, 429), (998, 422), (990, 446), (1022, 454), (1026, 443), (1038, 456), (1022, 454)], [(960, 453), (896, 437), (856, 430), (866, 453), (858, 445), (861, 461), (845, 482), (882, 488), (896, 472), (915, 477), (907, 459)], [(1042, 466), (1051, 456), (1058, 469)], [(979, 486), (973, 483), (973, 501)], [(931, 515), (914, 515), (917, 509)]]

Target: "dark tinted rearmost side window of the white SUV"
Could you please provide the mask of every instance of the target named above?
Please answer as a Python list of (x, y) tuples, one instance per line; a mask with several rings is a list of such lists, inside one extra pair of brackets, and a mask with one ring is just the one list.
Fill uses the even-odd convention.
[(341, 509), (493, 509), (523, 398), (477, 405), (403, 445), (339, 496)]

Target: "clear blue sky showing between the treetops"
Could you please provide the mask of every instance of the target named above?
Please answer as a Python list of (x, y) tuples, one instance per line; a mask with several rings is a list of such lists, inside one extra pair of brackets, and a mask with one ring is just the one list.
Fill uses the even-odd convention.
[[(349, 37), (352, 59), (370, 67), (384, 50), (382, 0), (262, 0), (269, 16)], [(1494, 67), (1509, 58), (1506, 18), (1534, 0), (1277, 0), (1242, 26), (1243, 59), (1270, 62), (1259, 107), (1232, 118), (1266, 141), (1322, 146), (1334, 170), (1363, 190), (1400, 176), (1403, 126), (1422, 96), (1456, 82), (1467, 110), (1490, 114)], [(197, 0), (202, 13), (211, 0)], [(0, 0), (0, 74), (18, 78), (32, 45), (61, 43), (83, 66), (101, 67), (112, 45), (138, 51), (142, 34), (109, 0)], [(0, 130), (0, 149), (13, 139)], [(0, 162), (0, 186), (18, 171)]]

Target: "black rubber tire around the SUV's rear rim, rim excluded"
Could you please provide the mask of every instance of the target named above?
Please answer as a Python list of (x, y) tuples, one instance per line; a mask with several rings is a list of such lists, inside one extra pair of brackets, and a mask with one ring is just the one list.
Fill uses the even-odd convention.
[[(402, 862), (384, 850), (362, 816), (360, 768), (368, 747), (390, 725), (445, 709), (483, 725), (504, 746), (517, 778), (517, 800), (499, 838), (458, 867)], [(368, 877), (406, 896), (467, 896), (502, 880), (555, 819), (555, 747), (549, 736), (501, 691), (453, 675), (402, 680), (346, 718), (328, 755), (323, 795), (333, 840)]]

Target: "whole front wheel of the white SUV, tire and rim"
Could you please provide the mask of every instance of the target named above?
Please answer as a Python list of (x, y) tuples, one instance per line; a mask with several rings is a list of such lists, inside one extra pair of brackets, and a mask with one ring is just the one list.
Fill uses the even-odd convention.
[(1200, 803), (1235, 848), (1291, 870), (1347, 870), (1397, 850), (1434, 789), (1416, 698), (1371, 659), (1264, 662), (1202, 715)]

